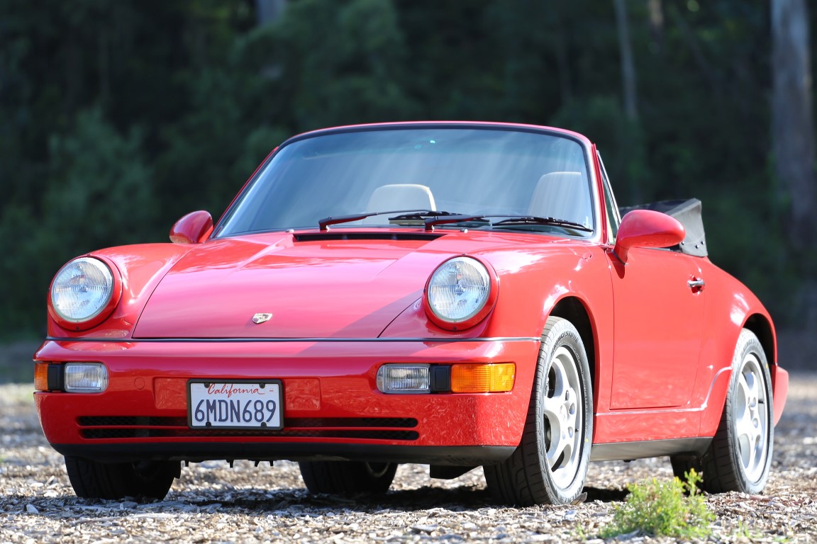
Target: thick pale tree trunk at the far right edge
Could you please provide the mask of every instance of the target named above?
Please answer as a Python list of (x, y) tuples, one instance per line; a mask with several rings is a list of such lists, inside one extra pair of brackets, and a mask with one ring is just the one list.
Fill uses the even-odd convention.
[(798, 249), (817, 247), (815, 135), (811, 113), (806, 0), (772, 0), (772, 146), (788, 196), (788, 234)]

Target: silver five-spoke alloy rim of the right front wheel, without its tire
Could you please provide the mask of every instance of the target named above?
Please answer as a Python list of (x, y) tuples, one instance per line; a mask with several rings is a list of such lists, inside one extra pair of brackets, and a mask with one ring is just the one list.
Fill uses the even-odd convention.
[(584, 421), (582, 383), (570, 350), (560, 346), (547, 371), (547, 391), (542, 402), (546, 420), (547, 467), (554, 483), (565, 487), (574, 479), (581, 461)]

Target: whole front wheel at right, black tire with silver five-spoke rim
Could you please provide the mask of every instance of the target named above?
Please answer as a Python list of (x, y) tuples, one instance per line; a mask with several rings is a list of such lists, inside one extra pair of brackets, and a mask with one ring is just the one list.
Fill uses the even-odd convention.
[[(554, 436), (560, 429), (560, 436)], [(484, 467), (491, 493), (521, 506), (573, 502), (587, 478), (592, 436), (587, 352), (573, 324), (550, 317), (522, 440), (506, 461)]]

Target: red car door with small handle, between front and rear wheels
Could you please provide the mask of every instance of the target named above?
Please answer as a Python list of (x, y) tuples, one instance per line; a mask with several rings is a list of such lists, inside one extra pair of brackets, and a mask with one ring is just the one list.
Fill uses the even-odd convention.
[(705, 291), (694, 257), (632, 248), (609, 253), (614, 296), (610, 408), (686, 405), (699, 365)]

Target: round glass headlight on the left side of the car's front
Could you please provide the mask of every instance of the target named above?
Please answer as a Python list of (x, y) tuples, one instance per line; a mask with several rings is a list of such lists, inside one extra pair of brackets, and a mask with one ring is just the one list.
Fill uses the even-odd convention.
[(114, 274), (92, 257), (74, 259), (60, 268), (51, 282), (51, 307), (69, 323), (85, 323), (99, 316), (114, 296)]

